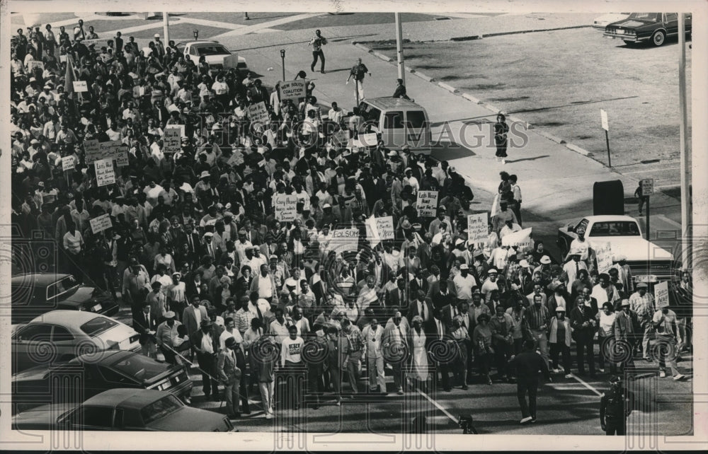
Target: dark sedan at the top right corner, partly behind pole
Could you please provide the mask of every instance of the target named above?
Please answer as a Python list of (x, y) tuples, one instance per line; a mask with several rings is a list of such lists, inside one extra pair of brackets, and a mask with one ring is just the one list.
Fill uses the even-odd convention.
[[(691, 15), (686, 14), (686, 33), (691, 33)], [(678, 35), (678, 13), (632, 13), (623, 21), (605, 27), (604, 36), (619, 38), (627, 45), (651, 41), (661, 46), (666, 37)]]

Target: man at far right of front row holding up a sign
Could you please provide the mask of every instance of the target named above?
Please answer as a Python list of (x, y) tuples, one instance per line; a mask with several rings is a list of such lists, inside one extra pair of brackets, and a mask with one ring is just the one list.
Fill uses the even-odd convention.
[[(668, 308), (668, 282), (654, 286), (656, 293), (656, 312), (651, 318), (651, 326), (656, 330), (656, 356), (659, 362), (659, 377), (666, 377), (666, 363), (671, 368), (674, 380), (686, 378), (678, 371), (676, 345), (681, 343), (680, 332), (676, 322), (676, 313)], [(644, 353), (646, 355), (646, 352)]]

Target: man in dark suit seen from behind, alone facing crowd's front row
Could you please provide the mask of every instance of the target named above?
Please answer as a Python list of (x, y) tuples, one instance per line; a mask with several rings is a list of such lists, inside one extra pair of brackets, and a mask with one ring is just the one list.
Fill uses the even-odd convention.
[[(534, 351), (534, 347), (533, 341), (525, 342), (524, 351), (509, 361), (509, 370), (516, 373), (516, 396), (521, 406), (521, 424), (536, 422), (539, 371), (546, 380), (552, 381), (547, 361)], [(528, 403), (526, 402), (527, 394), (529, 396)]]

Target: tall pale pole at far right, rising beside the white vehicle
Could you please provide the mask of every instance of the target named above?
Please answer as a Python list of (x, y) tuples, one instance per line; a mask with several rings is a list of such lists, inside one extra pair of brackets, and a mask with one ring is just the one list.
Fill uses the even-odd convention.
[(684, 268), (691, 268), (691, 194), (690, 167), (686, 149), (688, 114), (686, 106), (686, 18), (678, 14), (678, 106), (680, 110), (680, 157), (681, 157), (681, 262)]

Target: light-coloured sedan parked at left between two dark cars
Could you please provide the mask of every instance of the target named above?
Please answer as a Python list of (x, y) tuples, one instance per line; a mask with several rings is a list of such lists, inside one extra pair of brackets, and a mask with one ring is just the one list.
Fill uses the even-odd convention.
[(101, 357), (107, 350), (139, 351), (132, 327), (91, 312), (52, 310), (27, 325), (13, 327), (13, 373), (40, 364), (69, 361), (82, 354)]

